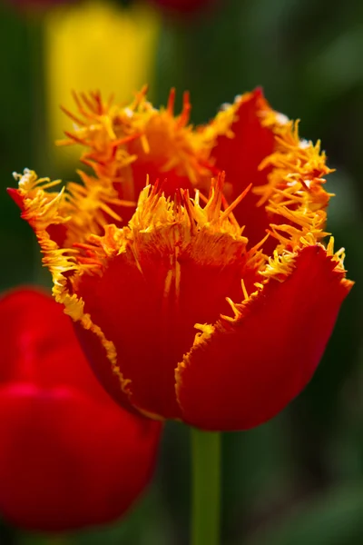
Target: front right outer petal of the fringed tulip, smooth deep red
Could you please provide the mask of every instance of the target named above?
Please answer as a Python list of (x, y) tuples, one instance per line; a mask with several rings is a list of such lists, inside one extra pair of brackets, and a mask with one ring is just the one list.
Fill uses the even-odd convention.
[(183, 420), (244, 430), (270, 420), (309, 382), (351, 287), (321, 246), (300, 251), (285, 282), (270, 281), (240, 322), (217, 327), (177, 372)]

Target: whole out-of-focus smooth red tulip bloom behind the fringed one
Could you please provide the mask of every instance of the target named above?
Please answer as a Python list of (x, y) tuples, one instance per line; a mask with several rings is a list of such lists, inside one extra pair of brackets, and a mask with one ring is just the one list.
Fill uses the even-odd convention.
[(5, 295), (0, 332), (1, 515), (43, 531), (120, 517), (151, 478), (160, 424), (103, 391), (43, 292)]

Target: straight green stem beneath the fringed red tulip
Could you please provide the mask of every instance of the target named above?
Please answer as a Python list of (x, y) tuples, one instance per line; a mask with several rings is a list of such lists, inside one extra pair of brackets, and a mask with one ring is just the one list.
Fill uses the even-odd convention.
[(191, 545), (220, 543), (221, 434), (191, 429)]

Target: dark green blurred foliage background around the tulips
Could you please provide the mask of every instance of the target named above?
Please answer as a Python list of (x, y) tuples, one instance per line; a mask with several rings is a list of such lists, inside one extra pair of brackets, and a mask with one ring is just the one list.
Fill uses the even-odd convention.
[[(34, 117), (39, 81), (30, 54), (29, 20), (5, 5), (0, 6), (0, 17), (4, 290), (44, 278), (33, 234), (5, 193), (13, 184), (13, 170), (36, 167), (42, 160), (36, 154), (44, 134)], [(302, 136), (322, 140), (329, 165), (337, 168), (328, 183), (329, 191), (337, 193), (329, 230), (337, 247), (344, 243), (349, 277), (357, 281), (306, 391), (268, 424), (223, 438), (226, 545), (363, 542), (362, 31), (360, 0), (334, 6), (328, 0), (220, 0), (195, 18), (163, 20), (151, 89), (156, 104), (165, 104), (172, 86), (181, 104), (182, 90), (188, 89), (192, 121), (202, 123), (219, 104), (260, 84), (277, 110), (301, 118)], [(42, 114), (46, 117), (44, 108)], [(70, 167), (56, 174), (52, 165), (50, 169), (51, 175), (67, 176)], [(64, 536), (54, 544), (186, 544), (189, 470), (188, 430), (170, 424), (152, 489), (130, 516), (121, 525)], [(16, 529), (0, 532), (2, 545), (52, 542)]]

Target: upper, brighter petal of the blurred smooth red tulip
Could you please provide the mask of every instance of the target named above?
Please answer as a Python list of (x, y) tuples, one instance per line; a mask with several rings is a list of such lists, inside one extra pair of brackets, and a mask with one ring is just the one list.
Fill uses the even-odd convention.
[(0, 300), (0, 342), (1, 382), (64, 383), (99, 400), (106, 397), (89, 371), (73, 322), (44, 292), (16, 290)]

